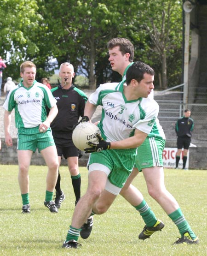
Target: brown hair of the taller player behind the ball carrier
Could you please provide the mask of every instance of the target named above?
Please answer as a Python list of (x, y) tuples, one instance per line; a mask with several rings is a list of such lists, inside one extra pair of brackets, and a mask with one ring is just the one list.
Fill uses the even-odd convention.
[(127, 39), (123, 37), (115, 37), (112, 38), (108, 43), (108, 49), (113, 49), (114, 47), (119, 46), (121, 53), (130, 54), (129, 61), (132, 62), (134, 60), (134, 46), (133, 44)]

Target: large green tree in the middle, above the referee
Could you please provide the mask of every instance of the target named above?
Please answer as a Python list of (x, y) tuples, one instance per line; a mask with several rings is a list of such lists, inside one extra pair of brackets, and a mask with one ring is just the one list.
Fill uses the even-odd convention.
[[(89, 87), (95, 89), (99, 70), (96, 65), (105, 58), (109, 39), (127, 28), (135, 3), (135, 0), (48, 0), (46, 10), (53, 11), (44, 17), (54, 36), (53, 52), (59, 64), (63, 59), (71, 61), (76, 70), (89, 78)], [(106, 65), (109, 66), (108, 60), (105, 68)]]

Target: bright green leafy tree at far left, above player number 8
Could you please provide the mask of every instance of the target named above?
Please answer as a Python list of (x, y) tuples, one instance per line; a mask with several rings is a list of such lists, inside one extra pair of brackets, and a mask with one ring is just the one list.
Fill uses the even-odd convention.
[(36, 0), (0, 0), (0, 55), (8, 59), (5, 74), (19, 77), (19, 64), (35, 59), (39, 48), (33, 41), (42, 19)]

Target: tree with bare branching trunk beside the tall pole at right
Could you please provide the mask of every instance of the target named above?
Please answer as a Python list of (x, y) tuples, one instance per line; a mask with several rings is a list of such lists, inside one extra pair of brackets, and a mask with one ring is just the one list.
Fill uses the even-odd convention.
[(182, 55), (181, 4), (181, 1), (178, 0), (159, 0), (139, 3), (138, 19), (136, 21), (138, 24), (141, 24), (141, 28), (145, 29), (150, 36), (151, 43), (148, 45), (150, 52), (159, 57), (161, 66), (160, 87), (162, 89), (167, 88), (167, 59), (172, 60), (173, 57), (177, 56), (172, 62), (175, 65), (176, 61), (179, 60), (181, 70), (182, 59), (178, 58), (178, 52), (180, 56)]

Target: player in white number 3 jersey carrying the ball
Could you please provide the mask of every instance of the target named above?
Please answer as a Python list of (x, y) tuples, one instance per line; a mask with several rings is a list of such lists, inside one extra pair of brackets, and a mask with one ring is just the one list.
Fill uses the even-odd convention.
[[(154, 89), (154, 70), (136, 62), (127, 71), (129, 81), (101, 85), (86, 103), (84, 120), (89, 120), (98, 105), (103, 106), (99, 123), (102, 137), (99, 143), (88, 143), (93, 152), (89, 158), (89, 181), (86, 194), (75, 207), (64, 248), (77, 248), (81, 226), (92, 212), (94, 204), (107, 189), (110, 202), (121, 191), (136, 160), (137, 147), (150, 133), (159, 112), (153, 99), (145, 99)], [(153, 108), (151, 107), (153, 105)]]

